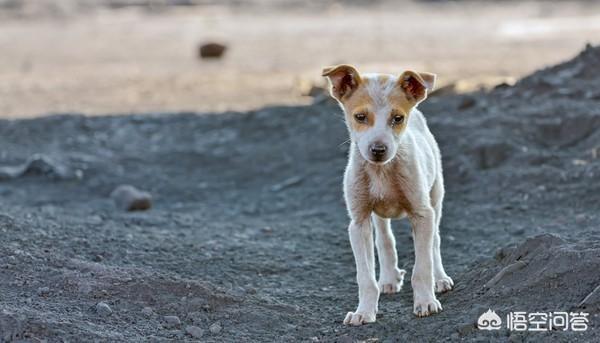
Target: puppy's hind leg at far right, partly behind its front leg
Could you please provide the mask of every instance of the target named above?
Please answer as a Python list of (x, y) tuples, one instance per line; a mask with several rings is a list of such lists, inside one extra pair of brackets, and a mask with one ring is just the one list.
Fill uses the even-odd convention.
[(436, 178), (431, 189), (431, 205), (435, 212), (435, 223), (433, 232), (433, 276), (435, 279), (435, 291), (438, 293), (447, 292), (452, 289), (454, 282), (446, 274), (442, 264), (440, 222), (442, 220), (442, 202), (444, 200), (444, 181), (441, 173)]

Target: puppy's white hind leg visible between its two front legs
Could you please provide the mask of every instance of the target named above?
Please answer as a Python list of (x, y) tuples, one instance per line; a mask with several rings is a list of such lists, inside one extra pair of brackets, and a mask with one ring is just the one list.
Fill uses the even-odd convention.
[(397, 293), (404, 283), (406, 270), (398, 268), (398, 253), (396, 239), (390, 225), (390, 220), (381, 218), (373, 213), (375, 226), (375, 244), (379, 257), (379, 290), (381, 293)]

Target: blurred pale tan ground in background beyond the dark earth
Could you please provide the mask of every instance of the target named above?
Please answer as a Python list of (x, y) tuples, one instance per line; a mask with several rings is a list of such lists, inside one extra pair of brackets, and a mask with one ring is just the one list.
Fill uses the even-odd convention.
[(0, 117), (303, 104), (340, 62), (465, 92), (586, 42), (596, 1), (0, 0)]

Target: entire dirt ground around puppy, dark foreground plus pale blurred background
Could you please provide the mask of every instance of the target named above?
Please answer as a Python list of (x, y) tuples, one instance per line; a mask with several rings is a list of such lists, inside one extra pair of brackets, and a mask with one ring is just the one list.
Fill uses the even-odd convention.
[[(385, 6), (364, 33), (365, 9), (329, 5), (284, 18), (245, 6), (0, 11), (0, 113), (20, 118), (0, 120), (0, 342), (600, 341), (600, 47), (583, 49), (594, 5), (410, 5), (427, 42), (410, 55), (414, 40), (394, 31), (401, 9)], [(228, 42), (225, 59), (195, 59), (209, 37)], [(299, 95), (340, 56), (465, 89), (528, 75), (421, 105), (443, 155), (456, 284), (434, 316), (414, 317), (406, 282), (382, 296), (376, 323), (342, 325), (357, 301), (347, 132), (334, 103)], [(123, 184), (153, 207), (116, 208)], [(410, 229), (393, 226), (410, 280)], [(589, 328), (478, 330), (488, 309), (586, 312)]]

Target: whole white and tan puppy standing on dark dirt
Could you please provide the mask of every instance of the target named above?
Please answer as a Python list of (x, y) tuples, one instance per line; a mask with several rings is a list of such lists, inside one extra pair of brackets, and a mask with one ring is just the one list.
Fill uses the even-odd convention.
[[(408, 217), (415, 244), (411, 278), (414, 313), (442, 310), (435, 291), (452, 289), (440, 254), (444, 180), (440, 150), (416, 107), (435, 75), (406, 71), (400, 76), (359, 74), (350, 65), (325, 68), (331, 95), (350, 131), (344, 196), (350, 214), (350, 243), (356, 261), (358, 307), (344, 324), (375, 321), (380, 292), (400, 291), (406, 271), (398, 268), (391, 218)], [(373, 229), (380, 263), (375, 278)]]

